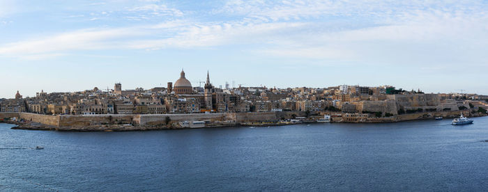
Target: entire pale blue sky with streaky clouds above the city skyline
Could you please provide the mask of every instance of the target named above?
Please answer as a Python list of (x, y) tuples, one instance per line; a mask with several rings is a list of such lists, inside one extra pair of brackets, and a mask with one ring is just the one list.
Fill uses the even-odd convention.
[[(0, 98), (166, 86), (488, 95), (488, 1), (0, 0)], [(203, 85), (202, 85), (203, 86)]]

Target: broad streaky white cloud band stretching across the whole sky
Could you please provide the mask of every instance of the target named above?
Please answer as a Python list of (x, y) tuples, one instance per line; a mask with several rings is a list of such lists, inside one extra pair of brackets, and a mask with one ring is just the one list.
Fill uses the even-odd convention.
[[(487, 51), (486, 7), (480, 1), (229, 1), (213, 12), (213, 22), (198, 22), (181, 10), (148, 4), (125, 17), (185, 19), (23, 40), (0, 45), (0, 55), (252, 45), (248, 51), (264, 56), (324, 61), (487, 61), (480, 55)], [(218, 19), (222, 14), (236, 18)]]

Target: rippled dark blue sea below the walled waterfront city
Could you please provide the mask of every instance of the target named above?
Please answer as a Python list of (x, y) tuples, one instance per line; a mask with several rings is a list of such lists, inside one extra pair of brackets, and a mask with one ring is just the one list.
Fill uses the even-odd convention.
[(0, 191), (487, 191), (488, 117), (450, 122), (128, 132), (0, 124)]

